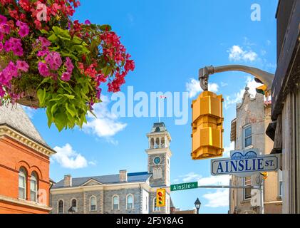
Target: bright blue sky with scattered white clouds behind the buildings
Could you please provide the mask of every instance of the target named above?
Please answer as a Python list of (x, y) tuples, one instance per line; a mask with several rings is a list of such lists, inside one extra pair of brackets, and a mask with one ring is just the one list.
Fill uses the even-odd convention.
[[(252, 21), (251, 6), (261, 6), (261, 21)], [(274, 73), (276, 69), (276, 13), (274, 0), (81, 0), (74, 19), (110, 24), (135, 60), (135, 71), (122, 90), (135, 92), (200, 93), (197, 71), (203, 66), (231, 63), (256, 66)], [(246, 73), (220, 73), (210, 78), (212, 90), (223, 94), (224, 147), (229, 150), (229, 131), (235, 103), (248, 85), (257, 84)], [(104, 91), (106, 88), (103, 88)], [(98, 106), (99, 120), (90, 119), (86, 130), (58, 133), (48, 128), (44, 110), (27, 110), (33, 123), (59, 155), (51, 159), (51, 178), (117, 174), (119, 170), (147, 170), (146, 133), (158, 118), (118, 118), (110, 113), (110, 94)], [(106, 99), (107, 98), (107, 99)], [(195, 97), (194, 97), (195, 98)], [(189, 107), (192, 98), (189, 100)], [(172, 136), (171, 182), (199, 180), (202, 185), (226, 184), (228, 177), (211, 177), (210, 160), (193, 161), (191, 113), (185, 125), (162, 118)], [(231, 145), (232, 146), (232, 145)], [(227, 190), (188, 190), (172, 193), (176, 207), (192, 209), (202, 202), (201, 213), (227, 213)]]

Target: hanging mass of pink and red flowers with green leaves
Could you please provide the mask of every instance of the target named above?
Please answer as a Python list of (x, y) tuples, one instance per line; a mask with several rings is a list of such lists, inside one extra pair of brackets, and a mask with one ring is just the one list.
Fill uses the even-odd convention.
[(72, 21), (77, 0), (0, 0), (0, 99), (82, 127), (100, 85), (120, 91), (135, 63), (108, 25)]

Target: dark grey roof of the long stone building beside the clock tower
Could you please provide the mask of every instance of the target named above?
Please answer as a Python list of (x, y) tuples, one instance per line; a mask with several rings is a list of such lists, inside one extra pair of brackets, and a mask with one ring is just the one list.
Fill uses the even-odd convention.
[[(71, 187), (80, 187), (89, 180), (95, 180), (103, 185), (112, 185), (118, 183), (130, 183), (130, 182), (146, 182), (151, 174), (148, 172), (132, 172), (128, 173), (128, 182), (120, 182), (119, 174), (117, 175), (104, 175), (104, 176), (95, 176), (95, 177), (77, 177), (72, 178)], [(100, 184), (99, 184), (100, 185)], [(63, 188), (63, 180), (59, 181), (52, 187), (53, 190)]]

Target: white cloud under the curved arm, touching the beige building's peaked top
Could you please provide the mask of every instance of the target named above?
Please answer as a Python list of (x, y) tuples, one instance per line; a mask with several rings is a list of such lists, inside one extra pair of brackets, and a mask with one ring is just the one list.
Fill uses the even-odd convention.
[[(255, 95), (257, 94), (256, 88), (259, 86), (262, 86), (261, 83), (257, 83), (254, 78), (252, 77), (247, 77), (246, 85), (249, 88), (248, 92), (250, 93), (251, 97), (254, 98)], [(229, 106), (240, 103), (242, 101), (243, 95), (244, 95), (244, 88), (239, 90), (239, 93), (235, 93), (234, 95), (227, 95), (225, 97), (225, 109), (229, 108)]]

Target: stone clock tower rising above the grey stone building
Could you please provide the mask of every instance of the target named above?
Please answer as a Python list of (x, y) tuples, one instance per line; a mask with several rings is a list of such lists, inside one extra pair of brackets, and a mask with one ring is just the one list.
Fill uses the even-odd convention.
[(148, 172), (152, 173), (150, 186), (170, 186), (171, 136), (165, 127), (165, 123), (155, 123), (147, 137), (149, 140), (149, 148), (146, 150), (148, 154)]

